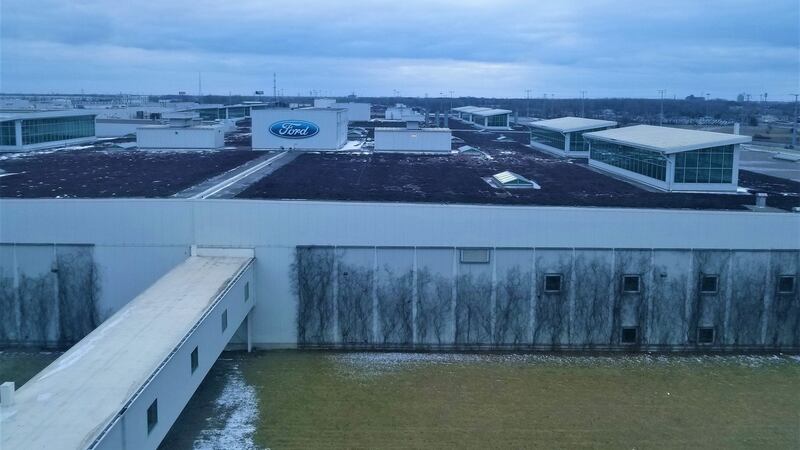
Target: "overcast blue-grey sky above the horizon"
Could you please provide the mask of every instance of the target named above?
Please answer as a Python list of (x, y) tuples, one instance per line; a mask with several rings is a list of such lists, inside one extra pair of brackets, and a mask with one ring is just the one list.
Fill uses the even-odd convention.
[(800, 90), (798, 0), (0, 0), (0, 92), (733, 98)]

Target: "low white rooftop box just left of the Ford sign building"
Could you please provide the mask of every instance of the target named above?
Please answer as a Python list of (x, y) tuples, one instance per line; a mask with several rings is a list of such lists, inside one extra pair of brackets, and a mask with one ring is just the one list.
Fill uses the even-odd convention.
[(136, 146), (144, 149), (217, 149), (225, 146), (222, 127), (142, 127)]

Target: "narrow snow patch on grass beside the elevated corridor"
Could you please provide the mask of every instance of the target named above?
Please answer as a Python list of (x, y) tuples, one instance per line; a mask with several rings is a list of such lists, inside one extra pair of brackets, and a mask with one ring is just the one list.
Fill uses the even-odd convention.
[[(215, 401), (209, 424), (195, 440), (194, 450), (255, 450), (253, 434), (258, 421), (258, 397), (253, 386), (247, 384), (238, 365), (227, 376), (225, 387)], [(213, 426), (224, 421), (220, 426)]]

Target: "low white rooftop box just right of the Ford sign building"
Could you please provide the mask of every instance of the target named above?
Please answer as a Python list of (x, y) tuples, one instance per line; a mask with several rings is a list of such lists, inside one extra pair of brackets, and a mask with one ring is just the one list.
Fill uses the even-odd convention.
[(449, 128), (420, 128), (409, 122), (406, 128), (375, 128), (375, 151), (398, 153), (450, 153), (453, 134)]

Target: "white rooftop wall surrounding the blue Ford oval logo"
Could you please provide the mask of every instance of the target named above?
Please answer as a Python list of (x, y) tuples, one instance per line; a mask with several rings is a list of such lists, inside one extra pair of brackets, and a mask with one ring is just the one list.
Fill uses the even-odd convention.
[[(270, 126), (283, 120), (311, 122), (319, 128), (319, 132), (299, 139), (271, 134)], [(347, 143), (347, 113), (338, 109), (254, 110), (252, 121), (254, 149), (337, 150)]]

